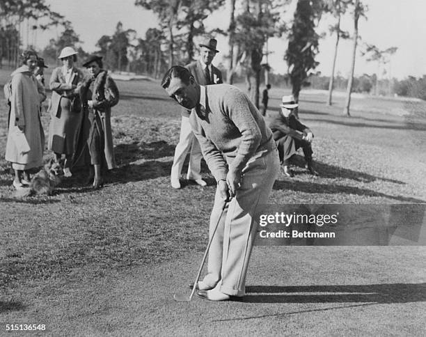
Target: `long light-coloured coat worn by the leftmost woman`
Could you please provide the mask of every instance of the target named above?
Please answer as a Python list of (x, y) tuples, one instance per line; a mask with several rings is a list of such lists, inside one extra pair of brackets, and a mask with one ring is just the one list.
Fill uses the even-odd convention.
[[(12, 73), (12, 97), (9, 119), (8, 140), (6, 143), (6, 160), (13, 163), (13, 168), (26, 170), (42, 166), (45, 133), (40, 121), (40, 105), (45, 98), (38, 91), (38, 80), (29, 71), (27, 65), (17, 68)], [(24, 135), (29, 143), (29, 152), (19, 152), (15, 143), (15, 134), (19, 127), (24, 127)]]

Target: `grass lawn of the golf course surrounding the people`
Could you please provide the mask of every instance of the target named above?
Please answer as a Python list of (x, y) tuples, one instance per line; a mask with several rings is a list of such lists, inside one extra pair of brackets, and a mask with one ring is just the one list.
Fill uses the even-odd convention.
[[(3, 71), (0, 75), (0, 84), (3, 84), (7, 74)], [(141, 327), (148, 329), (152, 335), (161, 335), (161, 331), (165, 335), (171, 334), (174, 327), (176, 334), (189, 336), (189, 331), (207, 334), (213, 331), (211, 329), (217, 329), (212, 322), (224, 319), (220, 313), (212, 314), (212, 318), (203, 311), (200, 317), (210, 322), (208, 328), (198, 326), (195, 330), (187, 330), (188, 324), (200, 324), (196, 312), (191, 309), (186, 312), (173, 302), (160, 303), (153, 295), (159, 290), (163, 295), (164, 292), (170, 295), (173, 288), (168, 286), (172, 286), (172, 280), (180, 278), (180, 284), (185, 284), (195, 276), (207, 240), (214, 180), (207, 167), (203, 166), (208, 187), (182, 181), (182, 189), (171, 189), (169, 173), (178, 143), (180, 108), (166, 96), (157, 81), (118, 81), (117, 84), (121, 100), (113, 108), (112, 127), (119, 167), (109, 174), (103, 189), (92, 191), (82, 185), (87, 173), (79, 171), (65, 180), (52, 196), (16, 199), (11, 186), (10, 165), (3, 155), (0, 158), (0, 324), (32, 324), (37, 323), (29, 322), (33, 318), (42, 318), (50, 326), (49, 334), (52, 336), (118, 336), (122, 335), (120, 332), (123, 335), (141, 335)], [(283, 94), (284, 91), (278, 88), (271, 89), (267, 118), (278, 111)], [(278, 177), (270, 202), (277, 205), (426, 203), (426, 102), (354, 98), (352, 117), (347, 118), (341, 116), (344, 103), (341, 97), (335, 98), (332, 107), (326, 107), (325, 100), (326, 96), (320, 93), (302, 92), (299, 112), (302, 123), (315, 134), (313, 150), (319, 177), (306, 174), (303, 163), (299, 161), (292, 180)], [(1, 149), (6, 146), (6, 117), (6, 105), (0, 104)], [(48, 113), (42, 116), (42, 123), (47, 134)], [(51, 157), (52, 153), (46, 150), (45, 158)], [(416, 335), (417, 331), (424, 329), (420, 319), (425, 313), (425, 306), (422, 306), (425, 301), (425, 288), (422, 286), (425, 284), (425, 271), (420, 263), (425, 258), (423, 247), (377, 248), (368, 250), (370, 253), (358, 247), (334, 247), (331, 253), (337, 262), (330, 278), (321, 274), (317, 280), (312, 279), (310, 270), (319, 272), (319, 265), (325, 268), (324, 260), (319, 263), (318, 259), (329, 256), (330, 251), (320, 249), (315, 253), (311, 248), (293, 248), (285, 247), (287, 251), (284, 253), (288, 254), (294, 266), (306, 263), (308, 269), (295, 267), (291, 278), (282, 280), (280, 273), (271, 272), (271, 279), (268, 279), (267, 274), (251, 274), (249, 270), (249, 277), (252, 275), (253, 280), (251, 285), (265, 285), (264, 288), (252, 288), (253, 292), (287, 292), (289, 289), (279, 288), (283, 284), (323, 285), (326, 292), (371, 290), (385, 294), (377, 300), (381, 303), (379, 309), (372, 309), (379, 310), (374, 317), (383, 320), (386, 313), (394, 315), (401, 312), (404, 320), (401, 324), (393, 322), (395, 326), (381, 324), (381, 331), (377, 331), (377, 327), (370, 329), (372, 322), (361, 315), (361, 307), (356, 308), (358, 313), (353, 318), (347, 312), (331, 311), (329, 315), (336, 318), (333, 330), (324, 324), (315, 330), (315, 324), (308, 320), (312, 317), (310, 310), (316, 309), (310, 308), (309, 303), (322, 303), (322, 297), (308, 299), (302, 304), (303, 308), (298, 306), (296, 310), (292, 305), (301, 303), (297, 301), (297, 293), (307, 291), (301, 287), (291, 289), (296, 293), (294, 301), (286, 301), (286, 311), (306, 311), (292, 316), (288, 322), (290, 332), (322, 335), (328, 331), (337, 336), (346, 331), (352, 335), (361, 325), (359, 334), (362, 335), (400, 332)], [(259, 256), (265, 252), (264, 247), (256, 249)], [(271, 256), (274, 258), (279, 256), (277, 251), (283, 252), (283, 247), (267, 249), (273, 250)], [(374, 257), (369, 254), (374, 254)], [(285, 260), (286, 255), (281, 256)], [(352, 266), (363, 276), (355, 273), (349, 278), (350, 265), (346, 263), (355, 264), (357, 257), (364, 259), (365, 263)], [(390, 259), (395, 259), (396, 267), (389, 265)], [(408, 261), (406, 265), (404, 260)], [(186, 264), (185, 261), (189, 262)], [(315, 261), (318, 264), (315, 265)], [(375, 274), (375, 270), (381, 269), (383, 274)], [(281, 273), (285, 274), (285, 269)], [(384, 297), (392, 297), (398, 291), (394, 285), (397, 283), (404, 284), (402, 289), (408, 293), (407, 296), (399, 295), (397, 301), (384, 300)], [(144, 284), (150, 288), (144, 288)], [(379, 288), (362, 288), (361, 285), (365, 284), (375, 284)], [(407, 284), (414, 285), (410, 287)], [(269, 289), (267, 285), (278, 288)], [(347, 288), (338, 288), (339, 285)], [(354, 288), (348, 288), (349, 285), (354, 285)], [(356, 288), (356, 285), (361, 288)], [(152, 289), (155, 287), (158, 289)], [(184, 291), (184, 288), (181, 290)], [(314, 288), (313, 292), (322, 290), (324, 288)], [(109, 301), (109, 296), (113, 297), (113, 301)], [(139, 298), (144, 304), (139, 303)], [(364, 303), (360, 299), (352, 301), (352, 297), (345, 297), (344, 301)], [(97, 311), (98, 306), (102, 306), (102, 311)], [(166, 306), (175, 308), (175, 314)], [(209, 310), (205, 304), (201, 308)], [(214, 311), (219, 310), (218, 306), (214, 308)], [(230, 305), (225, 308), (229, 311), (234, 309)], [(143, 314), (138, 312), (142, 309)], [(271, 308), (262, 304), (262, 311), (269, 315), (270, 324), (274, 324), (274, 313), (280, 312), (274, 311), (274, 304)], [(125, 313), (128, 318), (125, 318)], [(413, 317), (409, 319), (411, 313)], [(247, 317), (260, 315), (258, 311), (253, 313), (249, 309), (241, 314)], [(88, 315), (93, 316), (90, 319)], [(168, 325), (164, 323), (167, 329), (156, 329), (153, 322), (148, 323), (148, 320), (166, 322), (164, 315), (169, 318)], [(171, 318), (171, 315), (175, 316)], [(356, 324), (357, 318), (365, 319), (365, 322)], [(320, 319), (315, 316), (315, 322)], [(129, 326), (122, 325), (129, 321), (132, 322)], [(253, 326), (258, 324), (256, 320), (250, 322)], [(346, 322), (347, 330), (339, 322)], [(407, 322), (413, 329), (407, 327)], [(61, 327), (65, 326), (74, 328), (64, 333)], [(252, 331), (261, 334), (263, 328), (258, 329), (260, 331)], [(3, 331), (1, 326), (0, 335)], [(227, 330), (220, 331), (226, 335)], [(263, 331), (278, 334), (273, 329)]]

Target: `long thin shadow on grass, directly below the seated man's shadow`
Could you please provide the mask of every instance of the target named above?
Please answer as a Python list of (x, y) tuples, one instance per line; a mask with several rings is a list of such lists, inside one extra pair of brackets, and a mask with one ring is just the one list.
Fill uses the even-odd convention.
[(358, 196), (389, 198), (406, 203), (426, 203), (424, 200), (410, 198), (405, 196), (391, 196), (389, 194), (372, 191), (370, 189), (361, 189), (359, 187), (345, 185), (318, 184), (315, 182), (276, 180), (274, 189), (283, 189), (287, 191), (300, 191), (304, 193), (319, 194), (356, 194)]

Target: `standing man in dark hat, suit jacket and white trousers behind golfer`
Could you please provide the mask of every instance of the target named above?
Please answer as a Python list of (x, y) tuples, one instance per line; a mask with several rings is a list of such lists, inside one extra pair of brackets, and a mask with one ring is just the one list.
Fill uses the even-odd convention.
[[(222, 83), (221, 71), (212, 65), (214, 56), (219, 52), (219, 50), (216, 50), (216, 45), (217, 41), (214, 38), (200, 43), (200, 59), (186, 66), (197, 83), (202, 86)], [(189, 156), (187, 180), (194, 180), (200, 186), (207, 185), (206, 182), (201, 179), (200, 175), (201, 159), (203, 155), (201, 154), (200, 144), (191, 131), (191, 125), (189, 124), (190, 114), (191, 110), (182, 109), (180, 138), (175, 148), (175, 157), (171, 169), (171, 185), (174, 189), (180, 189), (180, 173), (189, 149), (191, 149), (191, 152)]]

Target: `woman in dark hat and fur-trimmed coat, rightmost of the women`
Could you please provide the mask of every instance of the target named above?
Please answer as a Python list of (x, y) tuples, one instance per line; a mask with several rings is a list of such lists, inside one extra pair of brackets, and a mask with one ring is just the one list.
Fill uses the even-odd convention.
[(83, 66), (90, 75), (80, 90), (81, 103), (90, 120), (87, 145), (93, 168), (90, 168), (89, 179), (93, 178), (93, 188), (97, 189), (104, 182), (105, 169), (117, 166), (113, 152), (111, 107), (118, 103), (119, 93), (107, 70), (102, 69), (102, 56), (89, 56)]

